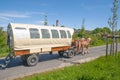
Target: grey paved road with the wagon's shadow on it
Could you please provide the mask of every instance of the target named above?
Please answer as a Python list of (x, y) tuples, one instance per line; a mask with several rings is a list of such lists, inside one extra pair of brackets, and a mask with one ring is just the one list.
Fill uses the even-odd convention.
[[(120, 51), (120, 44), (118, 45)], [(28, 67), (23, 65), (19, 57), (11, 61), (5, 70), (0, 70), (0, 80), (12, 80), (14, 78), (40, 73), (48, 70), (53, 70), (73, 64), (83, 63), (105, 55), (105, 46), (92, 47), (89, 49), (89, 54), (82, 56), (78, 54), (73, 58), (63, 58), (57, 53), (53, 55), (41, 54), (40, 61), (36, 66)], [(0, 60), (1, 61), (1, 60)]]

